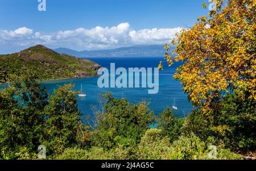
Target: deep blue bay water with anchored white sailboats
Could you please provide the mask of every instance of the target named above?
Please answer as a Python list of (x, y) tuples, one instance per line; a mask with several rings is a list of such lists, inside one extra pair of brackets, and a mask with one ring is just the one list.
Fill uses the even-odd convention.
[[(115, 63), (115, 68), (156, 68), (159, 61), (163, 58), (160, 57), (93, 57), (86, 58), (97, 62), (102, 67), (110, 68), (110, 63)], [(178, 110), (174, 111), (176, 116), (187, 116), (192, 110), (191, 103), (188, 102), (187, 95), (183, 93), (183, 89), (179, 81), (174, 80), (173, 76), (176, 72), (176, 68), (181, 63), (175, 63), (170, 68), (164, 67), (163, 71), (159, 71), (159, 92), (158, 94), (148, 94), (148, 88), (100, 88), (97, 86), (98, 77), (92, 78), (79, 78), (57, 81), (43, 82), (42, 86), (46, 86), (49, 92), (53, 92), (57, 89), (57, 85), (63, 86), (64, 84), (73, 83), (75, 89), (80, 90), (82, 85), (83, 93), (86, 93), (86, 97), (79, 97), (78, 105), (83, 115), (93, 115), (92, 106), (96, 109), (100, 109), (100, 103), (98, 95), (112, 92), (113, 97), (122, 98), (125, 97), (131, 103), (139, 103), (143, 100), (150, 102), (150, 109), (154, 111), (156, 115), (166, 109), (167, 106), (175, 105)], [(153, 69), (154, 71), (154, 69)], [(115, 77), (117, 78), (117, 76)], [(154, 77), (153, 77), (154, 79)]]

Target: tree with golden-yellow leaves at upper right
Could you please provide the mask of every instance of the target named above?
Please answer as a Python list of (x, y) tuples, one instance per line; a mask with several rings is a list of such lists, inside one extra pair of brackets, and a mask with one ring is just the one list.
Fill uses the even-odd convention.
[[(256, 98), (256, 1), (214, 0), (216, 8), (202, 16), (189, 29), (183, 29), (172, 41), (174, 52), (166, 44), (166, 60), (184, 64), (174, 78), (181, 81), (189, 101), (205, 115), (217, 108), (228, 91), (241, 98), (249, 93)], [(207, 8), (206, 4), (203, 5)], [(162, 62), (159, 69), (162, 68)]]

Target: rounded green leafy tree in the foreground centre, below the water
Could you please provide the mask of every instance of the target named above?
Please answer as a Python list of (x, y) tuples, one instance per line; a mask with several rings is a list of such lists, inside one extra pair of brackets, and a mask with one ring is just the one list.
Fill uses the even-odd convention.
[(153, 112), (147, 107), (148, 103), (133, 105), (127, 99), (113, 98), (109, 93), (105, 98), (105, 112), (98, 119), (94, 143), (107, 149), (118, 144), (122, 147), (135, 147), (154, 122)]

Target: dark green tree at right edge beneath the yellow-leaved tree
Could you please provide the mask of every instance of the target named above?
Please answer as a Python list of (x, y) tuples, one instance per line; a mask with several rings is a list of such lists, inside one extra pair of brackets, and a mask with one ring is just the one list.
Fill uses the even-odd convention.
[(216, 136), (223, 139), (233, 150), (255, 149), (256, 147), (256, 100), (249, 93), (242, 100), (239, 95), (226, 95), (221, 102)]

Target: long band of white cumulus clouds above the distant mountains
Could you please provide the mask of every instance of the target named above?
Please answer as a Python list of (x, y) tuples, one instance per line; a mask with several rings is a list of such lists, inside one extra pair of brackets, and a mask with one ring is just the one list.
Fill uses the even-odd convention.
[(72, 49), (106, 49), (138, 44), (164, 44), (175, 37), (182, 28), (152, 28), (133, 30), (129, 23), (120, 23), (114, 27), (94, 27), (91, 29), (58, 31), (51, 34), (33, 32), (21, 27), (14, 31), (0, 30), (0, 44), (7, 46), (29, 46), (44, 44), (49, 47), (67, 47)]

